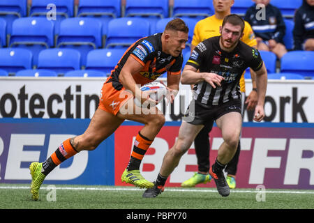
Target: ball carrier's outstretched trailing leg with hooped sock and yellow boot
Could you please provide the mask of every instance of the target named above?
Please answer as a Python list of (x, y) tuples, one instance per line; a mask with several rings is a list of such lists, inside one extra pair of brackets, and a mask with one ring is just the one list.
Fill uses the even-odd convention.
[(103, 140), (109, 137), (123, 121), (123, 119), (98, 108), (93, 118), (91, 118), (89, 127), (83, 134), (63, 141), (45, 162), (32, 162), (29, 169), (31, 170), (32, 177), (31, 194), (33, 199), (38, 199), (40, 185), (43, 183), (45, 176), (55, 167), (80, 151), (94, 150)]

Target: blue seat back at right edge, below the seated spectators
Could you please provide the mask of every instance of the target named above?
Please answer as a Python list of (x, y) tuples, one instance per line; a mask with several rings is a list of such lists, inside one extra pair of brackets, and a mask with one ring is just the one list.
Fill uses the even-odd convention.
[(281, 72), (293, 72), (304, 77), (314, 76), (314, 52), (292, 51), (281, 58)]

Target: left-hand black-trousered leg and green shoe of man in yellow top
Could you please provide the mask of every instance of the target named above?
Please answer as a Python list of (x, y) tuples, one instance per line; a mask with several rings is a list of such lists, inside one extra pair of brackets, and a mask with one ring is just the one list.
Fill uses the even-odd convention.
[(181, 187), (195, 187), (199, 183), (211, 181), (209, 175), (209, 132), (213, 128), (213, 122), (209, 121), (200, 130), (194, 140), (194, 148), (197, 157), (198, 171), (191, 178), (184, 181)]

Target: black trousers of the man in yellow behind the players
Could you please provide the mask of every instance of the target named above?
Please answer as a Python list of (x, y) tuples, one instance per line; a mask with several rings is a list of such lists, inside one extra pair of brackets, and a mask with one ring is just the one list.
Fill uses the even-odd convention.
[[(204, 128), (197, 134), (194, 140), (195, 153), (197, 157), (198, 171), (208, 172), (209, 171), (209, 132), (213, 128), (214, 123), (208, 122), (204, 125)], [(237, 165), (239, 162), (241, 145), (240, 140), (238, 148), (232, 160), (225, 167), (227, 174), (236, 175)]]

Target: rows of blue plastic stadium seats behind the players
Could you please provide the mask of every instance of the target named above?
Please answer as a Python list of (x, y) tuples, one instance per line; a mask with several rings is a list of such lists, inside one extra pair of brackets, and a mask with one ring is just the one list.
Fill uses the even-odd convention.
[[(283, 12), (287, 26), (284, 42), (287, 49), (292, 49), (294, 24), (289, 18), (301, 6), (301, 0), (280, 2), (282, 0), (272, 0), (271, 3)], [(250, 6), (246, 0), (237, 0), (232, 13), (244, 15)], [(27, 0), (1, 0), (0, 75), (16, 73), (40, 77), (70, 72), (68, 76), (77, 73), (90, 77), (108, 74), (126, 47), (139, 38), (163, 31), (173, 17), (181, 17), (190, 28), (189, 43), (184, 50), (186, 63), (196, 22), (213, 13), (212, 0), (174, 0), (173, 6), (168, 0), (126, 0), (125, 6), (121, 6), (121, 0), (80, 0), (77, 6), (74, 0), (32, 0), (29, 8)], [(267, 70), (276, 72), (276, 56), (269, 52), (261, 54)], [(45, 61), (45, 55), (50, 55), (47, 56), (50, 61)], [(71, 61), (66, 61), (68, 55)], [(23, 61), (16, 59), (18, 56)], [(52, 57), (54, 63), (51, 63)], [(313, 61), (311, 52), (288, 52), (281, 59), (280, 71), (297, 72), (309, 79), (308, 76), (314, 76), (311, 63), (306, 62), (310, 59)], [(65, 61), (66, 66), (63, 66)], [(304, 63), (307, 66), (302, 66), (306, 69), (301, 67)], [(51, 64), (55, 67), (49, 66)], [(51, 72), (44, 72), (46, 69)]]

